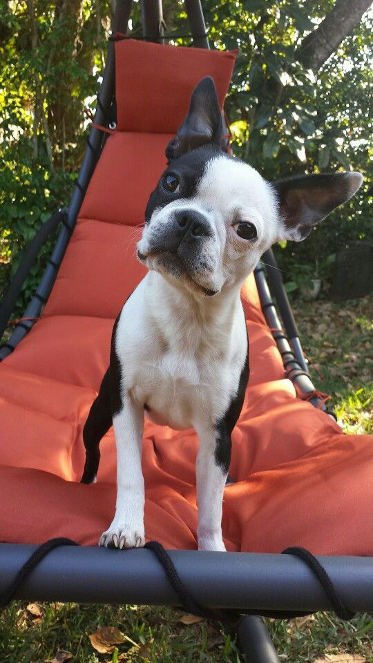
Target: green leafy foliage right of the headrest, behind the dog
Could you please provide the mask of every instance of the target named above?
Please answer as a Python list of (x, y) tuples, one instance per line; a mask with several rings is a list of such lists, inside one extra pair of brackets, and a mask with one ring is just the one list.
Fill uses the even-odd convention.
[[(207, 3), (216, 6), (216, 2)], [(365, 17), (316, 73), (297, 61), (303, 37), (330, 2), (220, 2), (208, 13), (216, 46), (240, 48), (227, 99), (233, 151), (268, 180), (300, 173), (359, 170), (365, 185), (305, 242), (276, 247), (287, 279), (358, 240), (373, 239), (372, 15)], [(329, 270), (327, 270), (329, 271)], [(317, 276), (314, 273), (313, 276)]]

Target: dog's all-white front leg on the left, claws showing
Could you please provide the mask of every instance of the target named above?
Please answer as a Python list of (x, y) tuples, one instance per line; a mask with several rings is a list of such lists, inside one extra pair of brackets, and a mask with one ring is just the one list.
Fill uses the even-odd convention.
[(144, 410), (129, 394), (113, 416), (117, 446), (117, 504), (111, 526), (99, 539), (100, 546), (144, 546), (144, 477), (141, 468)]

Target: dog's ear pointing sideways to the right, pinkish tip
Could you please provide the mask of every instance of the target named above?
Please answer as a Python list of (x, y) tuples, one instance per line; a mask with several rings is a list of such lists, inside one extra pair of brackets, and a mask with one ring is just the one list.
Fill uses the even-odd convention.
[(285, 225), (283, 239), (301, 242), (314, 224), (349, 200), (363, 182), (361, 173), (298, 175), (276, 182), (280, 217)]

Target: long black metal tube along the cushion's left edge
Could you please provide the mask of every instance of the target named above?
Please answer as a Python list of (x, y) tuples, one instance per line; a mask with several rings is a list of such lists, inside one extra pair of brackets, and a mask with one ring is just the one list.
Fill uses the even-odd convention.
[[(115, 7), (115, 15), (113, 19), (113, 32), (116, 32), (117, 30), (119, 30), (119, 28), (121, 28), (122, 30), (126, 29), (128, 18), (131, 12), (131, 5), (132, 5), (131, 0), (117, 0), (117, 4)], [(114, 93), (115, 93), (115, 50), (113, 42), (110, 41), (108, 44), (108, 57), (106, 60), (106, 66), (102, 77), (102, 84), (99, 89), (99, 94), (97, 95), (97, 108), (95, 111), (95, 119), (94, 119), (95, 124), (99, 125), (106, 124), (111, 103), (113, 101)], [(71, 232), (75, 227), (77, 215), (79, 213), (80, 207), (82, 206), (84, 195), (86, 193), (86, 189), (90, 182), (90, 177), (92, 177), (95, 165), (99, 157), (99, 153), (102, 148), (103, 136), (104, 133), (102, 131), (99, 131), (99, 129), (96, 129), (94, 126), (90, 128), (88, 146), (86, 148), (86, 152), (84, 153), (82, 166), (80, 168), (79, 175), (77, 177), (78, 185), (75, 186), (73, 189), (73, 194), (71, 196), (70, 204), (68, 206), (66, 222), (70, 230), (65, 226), (61, 229), (59, 236), (57, 238), (57, 242), (55, 244), (55, 248), (53, 249), (52, 255), (50, 256), (51, 262), (57, 265), (61, 265), (62, 258), (64, 258), (64, 254), (68, 246), (68, 242), (70, 240)], [(44, 302), (48, 300), (50, 291), (52, 290), (52, 287), (55, 283), (56, 276), (57, 276), (57, 270), (55, 269), (55, 267), (53, 267), (51, 264), (48, 265), (48, 267), (46, 267), (44, 271), (43, 276), (41, 276), (41, 280), (39, 282), (35, 295), (30, 300), (30, 303), (28, 304), (28, 307), (26, 308), (26, 311), (23, 314), (24, 318), (39, 317), (41, 312), (41, 307), (43, 306)], [(24, 336), (26, 336), (26, 334), (28, 333), (28, 329), (26, 329), (25, 327), (31, 328), (33, 324), (34, 323), (30, 320), (30, 322), (27, 325), (24, 325), (22, 327), (17, 325), (15, 327), (15, 330), (10, 336), (6, 346), (2, 347), (0, 350), (0, 360), (6, 358), (6, 356), (8, 356), (8, 354), (12, 352), (12, 349), (14, 349), (17, 346), (19, 341), (22, 340)]]

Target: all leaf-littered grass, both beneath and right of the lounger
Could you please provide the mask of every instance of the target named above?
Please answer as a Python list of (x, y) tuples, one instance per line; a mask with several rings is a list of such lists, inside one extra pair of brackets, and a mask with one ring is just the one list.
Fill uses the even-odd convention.
[[(346, 432), (372, 431), (372, 299), (342, 304), (294, 303), (314, 383)], [(238, 663), (234, 631), (198, 621), (183, 624), (170, 608), (13, 602), (0, 615), (0, 663)], [(187, 619), (188, 621), (188, 619)], [(267, 619), (281, 660), (373, 663), (373, 616), (342, 622), (329, 613)], [(99, 653), (89, 635), (115, 627)], [(95, 641), (94, 641), (95, 642)]]

